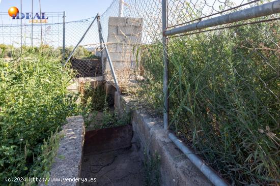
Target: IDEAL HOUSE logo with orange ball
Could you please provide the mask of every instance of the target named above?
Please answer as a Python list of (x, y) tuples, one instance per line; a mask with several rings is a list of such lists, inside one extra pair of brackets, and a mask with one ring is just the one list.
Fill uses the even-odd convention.
[[(1, 1), (1, 0), (0, 0)], [(18, 8), (11, 7), (8, 10), (9, 16), (12, 17), (12, 19), (27, 19), (30, 23), (47, 23), (48, 17), (45, 17), (45, 13), (36, 13), (33, 17), (32, 13), (19, 13)]]

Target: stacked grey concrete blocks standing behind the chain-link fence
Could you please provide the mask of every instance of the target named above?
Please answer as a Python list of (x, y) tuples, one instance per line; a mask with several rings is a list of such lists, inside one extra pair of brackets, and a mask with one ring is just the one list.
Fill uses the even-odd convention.
[[(142, 27), (142, 18), (109, 17), (107, 47), (118, 80), (129, 77), (130, 71), (137, 68), (136, 50), (141, 44)], [(112, 78), (108, 60), (105, 65), (105, 78)]]

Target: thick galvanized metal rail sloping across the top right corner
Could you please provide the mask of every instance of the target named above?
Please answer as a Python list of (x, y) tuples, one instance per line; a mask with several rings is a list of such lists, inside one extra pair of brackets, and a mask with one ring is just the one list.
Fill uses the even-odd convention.
[(237, 21), (267, 16), (276, 13), (280, 13), (280, 0), (221, 15), (204, 21), (199, 21), (197, 23), (188, 24), (178, 28), (173, 28), (171, 30), (167, 30), (165, 32), (165, 35), (172, 36), (175, 34), (186, 33), (193, 30), (233, 23)]

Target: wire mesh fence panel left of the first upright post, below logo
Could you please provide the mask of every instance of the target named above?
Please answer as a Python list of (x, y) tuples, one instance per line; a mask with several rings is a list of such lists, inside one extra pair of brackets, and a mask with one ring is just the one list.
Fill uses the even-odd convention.
[[(63, 13), (45, 13), (47, 22), (38, 20), (12, 19), (7, 13), (0, 13), (0, 43), (3, 45), (3, 57), (18, 56), (20, 47), (23, 52), (30, 47), (50, 48), (57, 55), (61, 54), (63, 43)], [(34, 19), (35, 20), (35, 19)], [(5, 46), (4, 46), (5, 45)]]

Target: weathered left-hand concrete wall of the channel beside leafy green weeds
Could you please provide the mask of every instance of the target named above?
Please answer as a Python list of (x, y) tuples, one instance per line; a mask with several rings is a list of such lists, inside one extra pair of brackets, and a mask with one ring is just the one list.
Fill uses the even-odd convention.
[[(50, 170), (50, 178), (71, 178), (68, 182), (49, 181), (48, 186), (70, 185), (78, 186), (80, 178), (83, 142), (85, 140), (85, 123), (82, 116), (67, 117), (67, 123), (62, 127), (57, 155)], [(76, 180), (74, 180), (74, 178)], [(40, 183), (40, 186), (45, 185)]]

